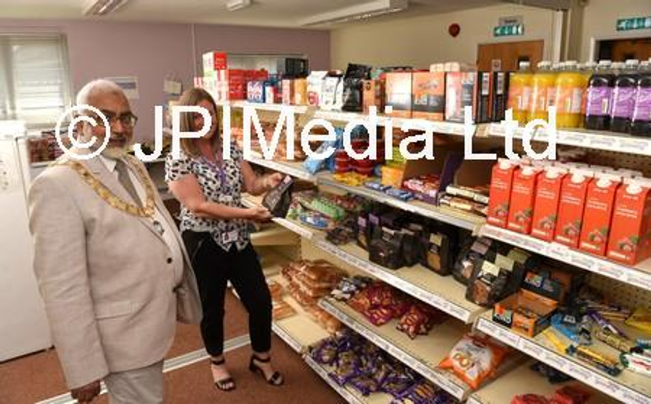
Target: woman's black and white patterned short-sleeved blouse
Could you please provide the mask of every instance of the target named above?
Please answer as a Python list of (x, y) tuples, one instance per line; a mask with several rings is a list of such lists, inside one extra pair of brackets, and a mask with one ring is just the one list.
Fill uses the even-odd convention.
[[(242, 208), (243, 177), (240, 162), (242, 151), (235, 143), (231, 144), (230, 159), (223, 160), (221, 167), (206, 158), (187, 156), (184, 152), (181, 152), (178, 160), (174, 160), (170, 153), (165, 160), (165, 181), (174, 181), (184, 175), (194, 174), (206, 195), (206, 200)], [(247, 222), (243, 219), (199, 218), (182, 205), (180, 220), (181, 231), (207, 231), (215, 243), (225, 251), (229, 251), (233, 244), (241, 251), (249, 243)]]

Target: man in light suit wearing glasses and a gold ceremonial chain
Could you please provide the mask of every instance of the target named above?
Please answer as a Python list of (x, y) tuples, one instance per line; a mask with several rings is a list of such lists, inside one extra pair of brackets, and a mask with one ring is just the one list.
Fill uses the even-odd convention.
[[(156, 186), (125, 152), (137, 121), (126, 96), (96, 80), (80, 104), (102, 111), (110, 139), (90, 160), (62, 156), (31, 186), (40, 293), (72, 397), (90, 403), (103, 379), (111, 403), (161, 403), (176, 319), (201, 321), (197, 283)], [(96, 121), (77, 132), (101, 145), (107, 128)]]

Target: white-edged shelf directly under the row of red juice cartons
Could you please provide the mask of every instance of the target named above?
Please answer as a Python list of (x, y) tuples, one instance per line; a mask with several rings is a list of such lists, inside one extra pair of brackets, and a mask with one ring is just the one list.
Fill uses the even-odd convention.
[(562, 244), (546, 242), (493, 225), (484, 225), (480, 234), (651, 291), (651, 259), (635, 267), (628, 267)]

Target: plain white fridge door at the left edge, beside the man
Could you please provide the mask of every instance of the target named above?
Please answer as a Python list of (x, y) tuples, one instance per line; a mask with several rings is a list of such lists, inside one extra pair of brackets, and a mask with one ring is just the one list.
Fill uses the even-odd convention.
[(25, 181), (29, 166), (20, 127), (0, 123), (0, 362), (51, 346), (32, 269)]

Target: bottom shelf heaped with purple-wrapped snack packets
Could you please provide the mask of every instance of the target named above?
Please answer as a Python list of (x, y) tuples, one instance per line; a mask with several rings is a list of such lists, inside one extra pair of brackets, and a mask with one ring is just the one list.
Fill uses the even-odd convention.
[(316, 343), (305, 362), (349, 403), (452, 403), (454, 399), (348, 328)]

